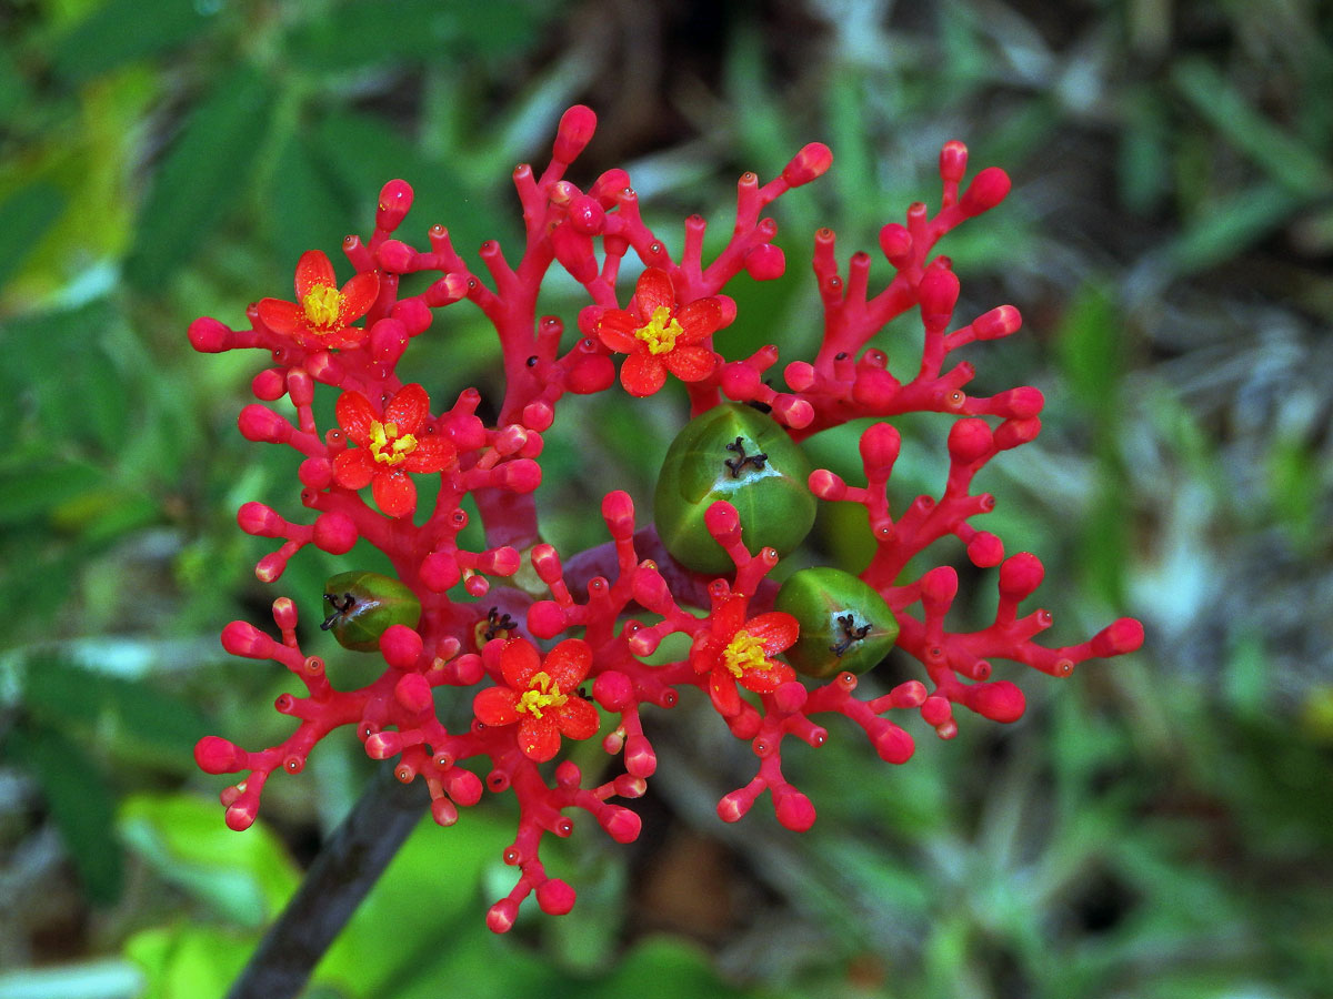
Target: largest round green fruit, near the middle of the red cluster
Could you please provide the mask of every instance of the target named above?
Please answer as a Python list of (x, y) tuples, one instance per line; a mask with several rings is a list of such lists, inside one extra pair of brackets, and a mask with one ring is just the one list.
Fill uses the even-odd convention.
[(726, 402), (690, 420), (672, 441), (657, 477), (657, 535), (684, 566), (728, 573), (734, 565), (704, 526), (718, 500), (736, 507), (745, 547), (786, 554), (814, 523), (810, 462), (764, 413)]

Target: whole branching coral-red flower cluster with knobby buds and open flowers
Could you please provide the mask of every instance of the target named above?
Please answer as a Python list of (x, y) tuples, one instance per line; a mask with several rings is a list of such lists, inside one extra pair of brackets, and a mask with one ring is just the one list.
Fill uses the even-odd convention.
[[(312, 523), (303, 525), (261, 503), (240, 509), (243, 530), (281, 539), (259, 561), (256, 574), (265, 582), (277, 579), (311, 542), (341, 555), (365, 541), (388, 557), (421, 605), (419, 619), (377, 618), (387, 611), (377, 607), (373, 586), (367, 594), (328, 595), (333, 617), (327, 625), (364, 613), (339, 627), (379, 629), (384, 671), (357, 690), (335, 689), (324, 661), (301, 650), (296, 605), (288, 598), (273, 605), (280, 639), (240, 621), (223, 630), (227, 651), (273, 659), (305, 687), (304, 697), (277, 699), (277, 710), (296, 721), (280, 745), (247, 751), (208, 737), (196, 746), (196, 761), (207, 773), (241, 775), (221, 794), (227, 823), (248, 827), (269, 774), (299, 773), (313, 746), (344, 725), (353, 726), (372, 758), (396, 757), (400, 779), (425, 782), (431, 814), (441, 826), (456, 822), (459, 807), (475, 805), (485, 789), (512, 790), (520, 819), (504, 858), (519, 868), (519, 878), (487, 918), (497, 932), (513, 924), (529, 894), (545, 912), (564, 914), (573, 906), (575, 890), (547, 875), (539, 858), (544, 835), (571, 834), (565, 813), (589, 813), (617, 842), (639, 835), (639, 815), (611, 799), (645, 793), (657, 757), (643, 710), (674, 706), (681, 690), (700, 690), (732, 734), (749, 741), (758, 761), (754, 778), (721, 798), (718, 815), (738, 821), (768, 790), (778, 822), (805, 830), (814, 822), (814, 806), (782, 777), (781, 747), (788, 735), (822, 745), (828, 731), (813, 721), (816, 715), (845, 717), (865, 731), (882, 759), (902, 763), (914, 742), (885, 717), (890, 711), (918, 713), (941, 738), (958, 730), (957, 705), (1013, 722), (1024, 711), (1024, 695), (1012, 681), (990, 679), (992, 661), (1062, 677), (1085, 659), (1133, 651), (1144, 638), (1137, 621), (1122, 618), (1078, 645), (1040, 645), (1050, 614), (1040, 609), (1020, 614), (1020, 605), (1040, 585), (1041, 562), (1029, 553), (1006, 558), (998, 537), (970, 523), (994, 506), (993, 497), (972, 492), (973, 478), (997, 454), (1037, 436), (1042, 398), (1032, 388), (988, 397), (964, 392), (973, 368), (966, 361), (953, 364), (949, 356), (974, 340), (1012, 334), (1021, 318), (1017, 309), (1001, 305), (954, 325), (958, 278), (948, 257), (933, 250), (956, 225), (1005, 197), (1004, 170), (986, 168), (964, 188), (966, 148), (948, 143), (940, 156), (938, 212), (932, 216), (925, 204), (913, 204), (901, 224), (889, 222), (880, 233), (893, 278), (878, 292), (870, 290), (868, 253), (853, 253), (844, 273), (833, 233), (816, 233), (824, 336), (812, 360), (777, 369), (789, 389), (782, 392), (766, 377), (778, 362), (778, 346), (729, 360), (713, 337), (737, 320), (734, 301), (722, 293), (729, 281), (741, 272), (760, 281), (781, 276), (785, 257), (772, 242), (777, 226), (761, 212), (828, 170), (829, 149), (806, 145), (768, 182), (744, 174), (730, 238), (705, 262), (704, 220), (685, 221), (682, 248), (673, 257), (641, 218), (624, 170), (604, 173), (587, 192), (564, 178), (595, 128), (591, 109), (571, 108), (545, 170), (539, 176), (524, 165), (515, 172), (527, 229), (517, 265), (492, 240), (481, 246), (484, 276), (479, 276), (441, 225), (429, 229), (424, 248), (395, 238), (412, 205), (412, 188), (391, 181), (380, 194), (369, 238), (351, 236), (344, 242), (356, 272), (345, 284), (339, 286), (323, 252), (311, 250), (296, 268), (297, 301), (263, 298), (249, 310), (245, 329), (205, 317), (189, 330), (201, 352), (267, 352), (276, 366), (256, 376), (255, 394), (269, 404), (285, 396), (295, 409), (293, 420), (252, 404), (239, 420), (247, 438), (283, 444), (301, 456), (301, 502), (313, 513)], [(628, 301), (621, 280), (627, 261), (643, 266)], [(535, 313), (537, 290), (553, 265), (583, 285), (591, 300), (577, 317), (580, 332), (572, 345), (559, 317)], [(401, 276), (416, 273), (428, 274), (431, 282), (421, 282), (425, 289), (417, 294), (400, 294)], [(432, 416), (427, 390), (404, 385), (396, 374), (411, 340), (431, 326), (435, 312), (463, 300), (481, 309), (500, 338), (505, 389), (495, 425), (479, 418), (476, 389)], [(904, 382), (889, 372), (885, 353), (872, 340), (910, 309), (920, 312), (922, 354), (920, 370)], [(363, 318), (364, 325), (353, 325)], [(541, 434), (567, 392), (609, 389), (617, 361), (620, 381), (632, 396), (655, 393), (672, 374), (686, 384), (694, 414), (724, 396), (753, 402), (796, 441), (849, 420), (877, 418), (861, 437), (865, 484), (816, 469), (809, 489), (824, 502), (866, 509), (873, 555), (861, 579), (890, 607), (897, 645), (920, 661), (929, 686), (910, 681), (858, 697), (860, 682), (850, 673), (820, 682), (797, 678), (781, 655), (796, 642), (798, 625), (772, 610), (774, 586), (765, 578), (777, 553), (744, 537), (726, 502), (714, 503), (704, 518), (713, 542), (734, 563), (724, 578), (674, 562), (651, 526), (636, 533), (633, 502), (620, 490), (603, 503), (607, 545), (563, 559), (540, 543), (533, 493), (541, 484)], [(337, 424), (323, 430), (313, 412), (316, 384), (340, 392)], [(948, 434), (949, 473), (940, 496), (917, 496), (896, 507), (889, 485), (901, 440), (885, 418), (908, 412), (957, 420)], [(435, 497), (424, 513), (417, 510), (419, 488)], [(460, 543), (468, 523), (461, 502), (469, 496), (485, 531), (481, 551)], [(894, 498), (902, 502), (901, 496)], [(948, 535), (961, 541), (973, 565), (998, 566), (994, 622), (978, 631), (946, 625), (958, 589), (950, 565), (916, 577), (908, 569)], [(524, 563), (531, 571), (521, 571)], [(495, 579), (507, 582), (493, 587)], [(359, 599), (367, 601), (364, 607), (353, 606)], [(396, 606), (403, 605), (396, 598)], [(325, 606), (323, 613), (328, 611)], [(651, 622), (640, 619), (645, 611)], [(688, 641), (686, 658), (649, 662), (672, 634)], [(361, 647), (373, 649), (373, 638)], [(451, 730), (440, 721), (441, 689), (455, 689), (473, 705), (471, 726)], [(605, 733), (603, 749), (619, 757), (623, 773), (585, 786), (580, 769), (567, 761), (549, 779), (543, 774), (539, 765), (557, 755), (563, 739), (589, 739), (599, 731)], [(469, 762), (476, 769), (464, 766)]]

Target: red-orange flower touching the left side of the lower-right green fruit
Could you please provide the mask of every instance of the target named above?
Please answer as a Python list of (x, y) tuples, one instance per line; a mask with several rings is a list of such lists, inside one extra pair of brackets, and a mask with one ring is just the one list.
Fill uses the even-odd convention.
[(796, 671), (773, 655), (796, 643), (801, 626), (781, 610), (744, 619), (745, 599), (732, 598), (714, 614), (710, 627), (694, 638), (690, 661), (696, 673), (706, 673), (708, 697), (725, 717), (741, 709), (740, 682), (756, 694), (770, 694), (796, 679)]

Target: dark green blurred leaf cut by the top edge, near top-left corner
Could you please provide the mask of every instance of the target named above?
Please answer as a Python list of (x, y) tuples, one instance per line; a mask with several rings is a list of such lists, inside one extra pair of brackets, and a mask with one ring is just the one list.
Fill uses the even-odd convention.
[(208, 8), (183, 0), (108, 0), (56, 43), (53, 68), (83, 81), (177, 48), (209, 29)]

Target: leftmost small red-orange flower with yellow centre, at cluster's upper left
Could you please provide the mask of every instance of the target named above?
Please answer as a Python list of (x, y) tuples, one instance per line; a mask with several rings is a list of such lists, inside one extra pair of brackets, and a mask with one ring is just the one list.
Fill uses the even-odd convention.
[(313, 350), (357, 346), (365, 330), (351, 324), (371, 310), (379, 293), (380, 277), (373, 270), (339, 290), (329, 258), (321, 250), (307, 250), (296, 262), (296, 301), (263, 298), (259, 317), (275, 333), (296, 337)]

